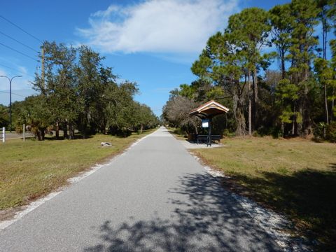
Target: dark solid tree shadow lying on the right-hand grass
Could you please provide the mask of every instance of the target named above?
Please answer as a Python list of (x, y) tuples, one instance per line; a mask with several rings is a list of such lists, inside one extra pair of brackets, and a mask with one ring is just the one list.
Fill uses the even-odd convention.
[(300, 235), (307, 237), (307, 246), (316, 251), (336, 251), (336, 164), (330, 163), (328, 167), (325, 171), (307, 167), (293, 174), (235, 174), (222, 183), (281, 212), (293, 222)]

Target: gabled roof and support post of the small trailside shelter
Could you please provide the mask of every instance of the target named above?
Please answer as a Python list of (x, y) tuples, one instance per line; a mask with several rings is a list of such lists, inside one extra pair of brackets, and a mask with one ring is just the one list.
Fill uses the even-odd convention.
[(190, 111), (190, 116), (197, 116), (201, 118), (202, 120), (207, 119), (209, 120), (209, 130), (208, 130), (208, 137), (207, 137), (207, 145), (211, 146), (211, 124), (212, 124), (212, 118), (214, 116), (221, 115), (223, 113), (228, 113), (229, 109), (222, 104), (219, 104), (218, 102), (215, 102), (214, 100), (211, 100), (205, 104), (202, 104), (201, 106), (197, 107), (196, 109), (193, 109)]

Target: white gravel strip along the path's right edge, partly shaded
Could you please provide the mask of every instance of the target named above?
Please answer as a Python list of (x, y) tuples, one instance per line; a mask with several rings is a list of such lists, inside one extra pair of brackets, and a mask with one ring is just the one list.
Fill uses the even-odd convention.
[[(200, 158), (197, 155), (189, 152), (197, 162), (202, 165), (200, 162)], [(211, 167), (204, 166), (202, 167), (205, 171), (213, 176), (219, 183), (219, 179), (230, 178), (229, 176), (225, 176), (222, 172), (215, 171), (211, 169)], [(284, 216), (280, 214), (276, 214), (274, 211), (270, 209), (265, 209), (260, 207), (259, 204), (253, 202), (252, 200), (248, 199), (247, 197), (237, 195), (236, 193), (230, 192), (232, 197), (237, 200), (237, 202), (243, 207), (247, 214), (253, 218), (253, 220), (258, 223), (262, 227), (263, 230), (267, 232), (267, 234), (274, 239), (276, 244), (278, 244), (283, 251), (289, 252), (299, 252), (299, 251), (311, 251), (304, 243), (307, 243), (303, 237), (293, 238), (290, 237), (289, 234), (283, 232), (283, 229), (291, 228), (292, 223), (288, 221)]]

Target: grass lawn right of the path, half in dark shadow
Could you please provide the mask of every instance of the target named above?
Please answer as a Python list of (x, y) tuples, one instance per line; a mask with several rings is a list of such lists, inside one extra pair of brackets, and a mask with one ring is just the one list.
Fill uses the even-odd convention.
[(223, 185), (290, 218), (321, 251), (336, 249), (336, 144), (232, 138), (193, 151), (230, 179)]

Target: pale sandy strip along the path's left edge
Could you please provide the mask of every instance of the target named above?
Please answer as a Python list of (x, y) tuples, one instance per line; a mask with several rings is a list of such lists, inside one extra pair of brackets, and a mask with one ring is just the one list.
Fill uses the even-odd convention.
[[(155, 130), (156, 132), (156, 130)], [(152, 132), (151, 134), (153, 134), (154, 132)], [(46, 195), (45, 197), (42, 197), (41, 199), (38, 199), (34, 202), (31, 202), (30, 204), (28, 204), (27, 206), (25, 206), (22, 211), (18, 211), (13, 218), (10, 218), (10, 220), (6, 220), (6, 221), (0, 221), (0, 231), (4, 230), (5, 228), (7, 228), (8, 226), (12, 225), (13, 223), (19, 221), (23, 216), (25, 216), (26, 214), (29, 214), (31, 211), (33, 211), (34, 209), (38, 208), (39, 206), (41, 206), (41, 204), (48, 202), (48, 200), (51, 200), (53, 197), (56, 197), (57, 195), (59, 195), (59, 193), (62, 193), (64, 190), (66, 190), (66, 188), (69, 188), (71, 186), (73, 186), (74, 184), (78, 183), (79, 181), (81, 181), (82, 179), (85, 179), (87, 176), (90, 176), (91, 174), (93, 174), (94, 172), (97, 172), (99, 169), (101, 169), (102, 167), (106, 167), (111, 165), (111, 163), (116, 160), (117, 158), (119, 158), (120, 156), (125, 155), (125, 153), (127, 153), (127, 151), (130, 151), (131, 148), (133, 148), (134, 146), (136, 146), (137, 144), (139, 144), (140, 141), (146, 139), (146, 137), (151, 136), (151, 134), (146, 135), (145, 137), (141, 137), (141, 139), (138, 139), (137, 141), (134, 141), (133, 144), (130, 145), (130, 147), (128, 147), (125, 151), (123, 151), (123, 153), (116, 155), (115, 157), (111, 158), (111, 160), (108, 163), (105, 163), (103, 165), (94, 165), (94, 167), (92, 167), (91, 169), (89, 169), (87, 172), (83, 172), (82, 174), (79, 174), (79, 176), (75, 176), (72, 177), (70, 179), (68, 179), (69, 182), (69, 186), (64, 186), (59, 188), (56, 192), (52, 192), (49, 193), (48, 195)]]

